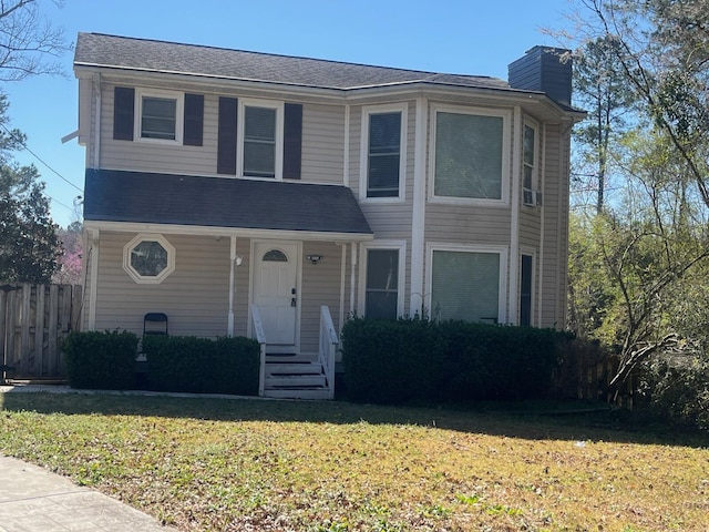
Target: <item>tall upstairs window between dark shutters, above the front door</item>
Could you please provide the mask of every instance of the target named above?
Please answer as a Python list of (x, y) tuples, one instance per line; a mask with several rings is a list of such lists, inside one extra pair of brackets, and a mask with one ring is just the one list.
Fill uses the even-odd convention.
[(280, 180), (284, 104), (240, 100), (239, 111), (240, 175)]

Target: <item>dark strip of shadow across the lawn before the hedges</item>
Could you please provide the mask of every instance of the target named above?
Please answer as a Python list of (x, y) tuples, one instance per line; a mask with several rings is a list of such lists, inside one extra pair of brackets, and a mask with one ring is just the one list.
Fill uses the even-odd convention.
[[(599, 408), (600, 407), (600, 408)], [(484, 402), (456, 407), (389, 407), (345, 401), (279, 401), (137, 393), (0, 393), (0, 410), (144, 416), (215, 421), (417, 424), (530, 440), (615, 441), (706, 447), (709, 438), (648, 426), (625, 410), (580, 402)]]

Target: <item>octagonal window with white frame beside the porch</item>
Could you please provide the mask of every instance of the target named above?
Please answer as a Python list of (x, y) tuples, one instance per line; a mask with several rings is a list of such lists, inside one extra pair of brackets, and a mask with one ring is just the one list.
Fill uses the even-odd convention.
[(175, 248), (162, 235), (137, 235), (123, 248), (123, 269), (136, 283), (162, 283), (175, 269)]

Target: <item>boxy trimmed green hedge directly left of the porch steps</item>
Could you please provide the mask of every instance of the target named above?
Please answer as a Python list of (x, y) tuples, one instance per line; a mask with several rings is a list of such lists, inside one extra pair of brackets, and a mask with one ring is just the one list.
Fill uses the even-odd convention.
[(260, 350), (256, 340), (147, 336), (143, 352), (152, 390), (258, 395)]

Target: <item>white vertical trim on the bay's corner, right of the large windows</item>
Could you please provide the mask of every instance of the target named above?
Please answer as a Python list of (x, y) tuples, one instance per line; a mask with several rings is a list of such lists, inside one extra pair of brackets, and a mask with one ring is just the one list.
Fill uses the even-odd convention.
[(510, 294), (507, 295), (507, 323), (518, 325), (520, 276), (520, 184), (522, 182), (522, 108), (514, 108), (512, 131), (512, 207), (510, 229)]

